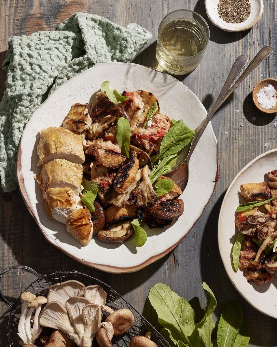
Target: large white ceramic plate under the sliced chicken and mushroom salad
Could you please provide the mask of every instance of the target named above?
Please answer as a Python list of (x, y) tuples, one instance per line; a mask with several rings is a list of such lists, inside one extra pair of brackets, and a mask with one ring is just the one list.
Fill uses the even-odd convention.
[(51, 220), (47, 215), (40, 189), (33, 178), (39, 171), (35, 167), (36, 146), (41, 129), (61, 126), (70, 106), (75, 102), (90, 102), (106, 80), (121, 92), (151, 91), (159, 100), (162, 113), (170, 118), (183, 119), (192, 129), (207, 115), (192, 91), (172, 76), (136, 64), (99, 64), (61, 85), (33, 112), (19, 146), (17, 176), (25, 203), (50, 243), (88, 266), (108, 272), (133, 272), (170, 252), (199, 219), (217, 181), (217, 143), (209, 124), (190, 161), (190, 179), (182, 195), (185, 212), (171, 227), (147, 230), (148, 240), (140, 248), (135, 247), (134, 238), (124, 244), (104, 243), (93, 238), (88, 246), (81, 246), (67, 233), (64, 224)]

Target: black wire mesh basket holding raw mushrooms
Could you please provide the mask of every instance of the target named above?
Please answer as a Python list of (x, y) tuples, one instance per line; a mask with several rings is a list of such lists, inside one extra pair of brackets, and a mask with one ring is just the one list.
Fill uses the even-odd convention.
[[(110, 307), (119, 308), (129, 308), (134, 314), (134, 324), (133, 327), (128, 330), (122, 336), (115, 336), (112, 339), (112, 344), (117, 347), (129, 347), (130, 340), (137, 335), (145, 335), (146, 332), (150, 331), (152, 334), (151, 340), (156, 342), (159, 347), (170, 347), (168, 341), (140, 314), (137, 310), (130, 305), (121, 295), (119, 295), (114, 289), (112, 289), (106, 283), (99, 281), (98, 279), (86, 275), (85, 273), (78, 271), (56, 271), (53, 273), (47, 273), (41, 275), (35, 270), (29, 268), (28, 266), (11, 266), (6, 268), (0, 274), (0, 281), (5, 273), (12, 269), (24, 269), (32, 272), (36, 276), (36, 280), (30, 283), (23, 291), (30, 291), (34, 294), (47, 296), (49, 288), (59, 282), (64, 282), (68, 280), (77, 280), (82, 282), (85, 286), (88, 285), (99, 285), (107, 292), (107, 303)], [(22, 292), (23, 293), (23, 292)], [(20, 293), (20, 295), (22, 294)], [(19, 347), (17, 336), (17, 324), (18, 324), (18, 314), (20, 314), (21, 302), (20, 295), (14, 303), (9, 302), (2, 294), (0, 289), (0, 298), (2, 301), (10, 307), (10, 312), (7, 318), (7, 346), (8, 347)], [(51, 330), (53, 331), (53, 330)], [(48, 334), (51, 334), (49, 330)], [(42, 335), (48, 335), (47, 329), (43, 329)], [(39, 346), (39, 339), (36, 341), (36, 345)]]

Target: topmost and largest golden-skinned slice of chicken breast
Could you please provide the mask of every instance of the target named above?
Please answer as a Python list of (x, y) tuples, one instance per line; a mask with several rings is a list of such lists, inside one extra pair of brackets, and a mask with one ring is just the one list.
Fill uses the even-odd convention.
[(72, 163), (82, 164), (85, 161), (83, 137), (65, 128), (43, 129), (37, 145), (37, 154), (40, 158), (37, 166), (53, 159), (67, 159)]

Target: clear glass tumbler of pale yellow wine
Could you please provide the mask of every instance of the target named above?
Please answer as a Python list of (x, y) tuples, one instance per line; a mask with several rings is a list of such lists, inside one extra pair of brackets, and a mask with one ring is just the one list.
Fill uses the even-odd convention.
[(159, 65), (174, 75), (193, 71), (203, 58), (210, 39), (205, 19), (190, 10), (170, 12), (158, 29), (156, 56)]

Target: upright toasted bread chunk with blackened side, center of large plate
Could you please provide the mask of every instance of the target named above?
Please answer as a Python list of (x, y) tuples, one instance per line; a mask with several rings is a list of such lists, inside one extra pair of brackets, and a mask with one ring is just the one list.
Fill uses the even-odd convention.
[(134, 182), (139, 166), (140, 162), (136, 155), (130, 154), (129, 158), (119, 167), (112, 184), (117, 193), (123, 193)]

